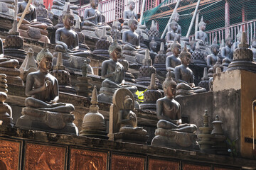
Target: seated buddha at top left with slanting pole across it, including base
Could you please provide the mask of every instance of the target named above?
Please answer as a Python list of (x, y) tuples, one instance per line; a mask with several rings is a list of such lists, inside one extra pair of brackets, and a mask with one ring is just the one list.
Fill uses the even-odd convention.
[[(28, 0), (18, 2), (17, 21), (20, 20), (25, 8), (28, 4)], [(48, 26), (46, 23), (39, 23), (36, 20), (36, 7), (30, 4), (26, 15), (22, 20), (22, 24), (18, 29), (22, 37), (32, 38), (34, 40), (40, 40), (41, 42), (50, 42), (47, 35)]]

